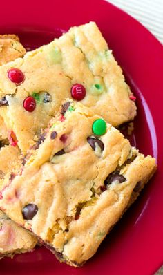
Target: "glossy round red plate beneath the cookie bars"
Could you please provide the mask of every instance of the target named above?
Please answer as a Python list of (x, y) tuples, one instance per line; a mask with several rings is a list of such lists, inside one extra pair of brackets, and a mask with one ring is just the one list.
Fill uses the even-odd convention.
[(137, 96), (133, 142), (157, 158), (158, 171), (84, 267), (61, 264), (41, 247), (14, 260), (1, 260), (3, 275), (149, 275), (163, 263), (162, 45), (135, 19), (106, 1), (1, 1), (0, 33), (17, 33), (28, 48), (89, 21), (102, 30)]

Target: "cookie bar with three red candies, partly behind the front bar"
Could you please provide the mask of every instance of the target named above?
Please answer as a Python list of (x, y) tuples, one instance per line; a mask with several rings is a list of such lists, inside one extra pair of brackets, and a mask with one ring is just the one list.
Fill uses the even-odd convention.
[(23, 153), (66, 97), (113, 126), (136, 114), (122, 70), (93, 22), (0, 68), (0, 115)]

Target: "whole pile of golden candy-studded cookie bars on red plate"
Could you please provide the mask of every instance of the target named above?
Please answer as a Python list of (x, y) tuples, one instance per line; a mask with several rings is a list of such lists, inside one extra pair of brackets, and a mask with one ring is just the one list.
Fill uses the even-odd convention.
[(93, 22), (26, 54), (0, 43), (1, 257), (38, 242), (81, 266), (156, 169), (114, 128), (135, 97)]

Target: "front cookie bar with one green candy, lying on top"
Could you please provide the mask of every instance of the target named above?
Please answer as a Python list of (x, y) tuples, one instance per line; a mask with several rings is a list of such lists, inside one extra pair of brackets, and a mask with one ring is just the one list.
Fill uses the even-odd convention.
[(81, 266), (155, 169), (154, 158), (68, 99), (6, 182), (0, 208), (59, 260)]

